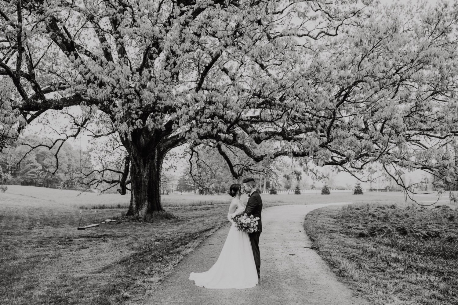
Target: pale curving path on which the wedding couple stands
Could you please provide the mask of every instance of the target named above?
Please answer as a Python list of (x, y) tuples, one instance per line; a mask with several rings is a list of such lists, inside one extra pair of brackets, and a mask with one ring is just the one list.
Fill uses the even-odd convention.
[(206, 289), (188, 279), (216, 262), (229, 232), (216, 231), (174, 268), (147, 304), (367, 304), (330, 271), (304, 233), (305, 214), (328, 205), (281, 205), (262, 211), (261, 282), (250, 289)]

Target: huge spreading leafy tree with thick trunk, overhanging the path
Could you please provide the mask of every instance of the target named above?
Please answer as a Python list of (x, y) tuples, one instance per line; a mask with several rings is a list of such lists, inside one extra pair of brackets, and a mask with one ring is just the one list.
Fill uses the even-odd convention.
[[(0, 80), (15, 87), (2, 117), (21, 129), (79, 105), (74, 133), (55, 144), (93, 125), (95, 137), (118, 134), (142, 219), (162, 209), (164, 156), (185, 142), (449, 179), (441, 141), (457, 130), (456, 7), (370, 2), (0, 0)], [(259, 153), (266, 139), (278, 149)]]

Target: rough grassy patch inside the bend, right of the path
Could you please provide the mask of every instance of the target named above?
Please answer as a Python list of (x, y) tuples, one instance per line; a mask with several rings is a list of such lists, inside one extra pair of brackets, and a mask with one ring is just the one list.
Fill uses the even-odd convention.
[(313, 247), (375, 304), (458, 304), (456, 205), (352, 204), (305, 217)]

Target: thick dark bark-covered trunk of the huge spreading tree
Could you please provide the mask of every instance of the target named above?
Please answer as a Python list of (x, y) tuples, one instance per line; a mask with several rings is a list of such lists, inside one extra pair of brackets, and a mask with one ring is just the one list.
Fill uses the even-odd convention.
[(154, 212), (163, 210), (160, 187), (164, 155), (157, 149), (131, 146), (131, 204), (127, 215), (148, 221)]

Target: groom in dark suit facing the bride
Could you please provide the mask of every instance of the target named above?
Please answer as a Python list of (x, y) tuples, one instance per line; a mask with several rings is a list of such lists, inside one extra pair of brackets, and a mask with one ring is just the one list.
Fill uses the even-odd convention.
[(249, 234), (251, 241), (251, 249), (253, 250), (253, 257), (255, 258), (256, 271), (259, 275), (259, 268), (261, 267), (261, 254), (259, 253), (259, 235), (262, 232), (262, 222), (261, 222), (261, 210), (262, 210), (262, 199), (261, 194), (256, 190), (255, 180), (253, 178), (246, 178), (243, 182), (243, 188), (245, 193), (248, 195), (248, 202), (246, 203), (245, 213), (250, 216), (259, 217), (258, 220), (258, 232)]

